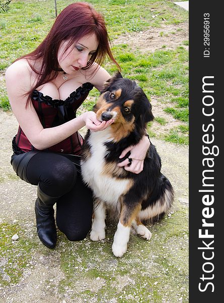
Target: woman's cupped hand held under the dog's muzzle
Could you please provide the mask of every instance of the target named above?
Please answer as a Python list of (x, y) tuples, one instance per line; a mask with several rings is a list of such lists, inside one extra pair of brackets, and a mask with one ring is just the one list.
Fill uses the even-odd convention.
[(114, 122), (114, 120), (112, 119), (109, 121), (100, 122), (99, 120), (97, 120), (97, 116), (94, 112), (86, 112), (82, 114), (82, 116), (83, 116), (83, 121), (86, 124), (86, 127), (89, 128), (89, 130), (91, 131), (104, 130)]

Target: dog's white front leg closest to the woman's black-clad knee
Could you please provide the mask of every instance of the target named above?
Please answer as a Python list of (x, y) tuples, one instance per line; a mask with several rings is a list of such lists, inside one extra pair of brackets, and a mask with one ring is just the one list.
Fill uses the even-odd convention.
[(105, 206), (101, 200), (97, 200), (94, 209), (94, 219), (92, 230), (90, 233), (90, 238), (93, 241), (103, 240), (105, 239)]

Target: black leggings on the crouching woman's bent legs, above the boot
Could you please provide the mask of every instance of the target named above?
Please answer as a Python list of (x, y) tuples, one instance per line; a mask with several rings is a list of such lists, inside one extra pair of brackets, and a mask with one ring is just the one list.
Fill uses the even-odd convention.
[(68, 240), (82, 240), (91, 228), (93, 195), (83, 183), (80, 157), (45, 151), (13, 155), (11, 164), (24, 181), (58, 197), (56, 222)]

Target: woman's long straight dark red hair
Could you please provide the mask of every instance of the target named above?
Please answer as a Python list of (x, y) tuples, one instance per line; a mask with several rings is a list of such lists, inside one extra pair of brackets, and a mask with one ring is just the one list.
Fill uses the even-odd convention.
[[(60, 71), (57, 61), (60, 43), (64, 40), (68, 41), (65, 52), (72, 44), (75, 45), (79, 39), (90, 34), (96, 35), (99, 45), (84, 69), (88, 69), (94, 62), (101, 65), (107, 56), (120, 70), (119, 64), (111, 53), (110, 39), (103, 16), (88, 3), (70, 4), (57, 16), (50, 32), (42, 43), (32, 53), (17, 59), (27, 59), (31, 69), (37, 74), (34, 86), (27, 92), (27, 105), (31, 99), (33, 89), (53, 80)], [(42, 60), (40, 71), (37, 71), (31, 64), (31, 61), (38, 59)]]

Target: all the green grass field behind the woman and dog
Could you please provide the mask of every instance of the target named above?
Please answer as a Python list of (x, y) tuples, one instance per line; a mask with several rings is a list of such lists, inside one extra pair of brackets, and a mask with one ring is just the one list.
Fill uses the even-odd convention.
[[(91, 0), (89, 2), (105, 16), (112, 41), (121, 34), (139, 32), (152, 27), (161, 28), (188, 19), (188, 12), (180, 10), (170, 1)], [(58, 13), (70, 3), (73, 1), (58, 0)], [(0, 15), (2, 36), (0, 71), (4, 73), (16, 58), (31, 52), (42, 41), (55, 20), (54, 14), (53, 2), (15, 0), (11, 3), (8, 13)], [(166, 36), (162, 29), (160, 36)], [(182, 44), (188, 45), (188, 40), (184, 40)], [(123, 76), (136, 80), (149, 99), (151, 96), (169, 99), (174, 106), (168, 107), (166, 112), (173, 115), (175, 119), (188, 122), (188, 51), (184, 46), (170, 50), (163, 45), (161, 50), (154, 53), (141, 54), (137, 47), (138, 45), (135, 51), (130, 51), (128, 43), (113, 47), (114, 56), (121, 65)], [(111, 74), (116, 71), (116, 67), (108, 61), (105, 62), (104, 67)], [(91, 99), (84, 103), (84, 110), (92, 109), (98, 95), (96, 89), (91, 91)], [(4, 85), (0, 87), (0, 107), (5, 111), (10, 110)], [(148, 130), (150, 131), (150, 126)], [(151, 135), (156, 136), (152, 131)]]

